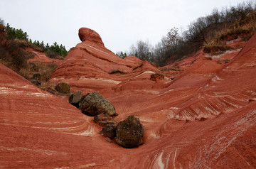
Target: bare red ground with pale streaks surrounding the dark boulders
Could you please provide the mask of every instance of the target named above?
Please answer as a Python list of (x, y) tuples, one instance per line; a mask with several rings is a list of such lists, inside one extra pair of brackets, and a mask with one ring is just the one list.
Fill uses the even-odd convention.
[[(100, 92), (117, 120), (138, 116), (144, 144), (105, 141), (92, 117), (0, 65), (1, 168), (256, 168), (256, 35), (242, 50), (201, 50), (169, 66), (181, 71), (161, 72), (118, 58), (97, 33), (82, 32), (50, 81)], [(151, 78), (156, 72), (166, 77)]]

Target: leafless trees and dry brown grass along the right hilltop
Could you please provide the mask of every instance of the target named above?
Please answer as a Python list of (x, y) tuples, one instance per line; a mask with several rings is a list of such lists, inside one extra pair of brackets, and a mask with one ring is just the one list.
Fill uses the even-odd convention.
[[(171, 30), (159, 43), (152, 46), (148, 41), (139, 40), (132, 45), (127, 55), (164, 66), (188, 58), (200, 48), (211, 53), (230, 49), (225, 41), (241, 37), (248, 40), (256, 31), (256, 4), (252, 2), (214, 9), (209, 15), (197, 18), (186, 31)], [(118, 52), (124, 58), (126, 53)]]

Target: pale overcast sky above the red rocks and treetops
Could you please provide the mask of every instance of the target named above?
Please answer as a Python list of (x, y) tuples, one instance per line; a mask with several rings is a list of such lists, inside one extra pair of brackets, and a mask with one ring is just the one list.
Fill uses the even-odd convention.
[(155, 45), (171, 28), (186, 30), (213, 9), (236, 6), (242, 0), (1, 0), (0, 18), (21, 28), (32, 40), (66, 49), (80, 43), (78, 29), (91, 28), (105, 46), (127, 51), (137, 40)]

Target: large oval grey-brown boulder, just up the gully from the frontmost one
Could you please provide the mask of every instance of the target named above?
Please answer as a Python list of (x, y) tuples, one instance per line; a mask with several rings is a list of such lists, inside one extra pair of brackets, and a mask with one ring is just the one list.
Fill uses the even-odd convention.
[(80, 99), (80, 110), (89, 116), (107, 114), (114, 116), (116, 111), (113, 105), (98, 92), (88, 93)]

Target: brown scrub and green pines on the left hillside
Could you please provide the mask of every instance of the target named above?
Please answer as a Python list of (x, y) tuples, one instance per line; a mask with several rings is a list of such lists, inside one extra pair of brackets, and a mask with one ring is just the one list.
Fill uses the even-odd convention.
[(28, 80), (31, 80), (34, 74), (40, 74), (41, 82), (46, 82), (57, 65), (54, 62), (28, 62), (27, 60), (33, 58), (35, 53), (26, 48), (33, 48), (38, 52), (54, 53), (55, 56), (63, 58), (55, 52), (60, 46), (55, 43), (46, 50), (47, 48), (43, 48), (42, 44), (31, 43), (26, 32), (12, 28), (9, 24), (4, 26), (4, 21), (0, 20), (0, 63)]

